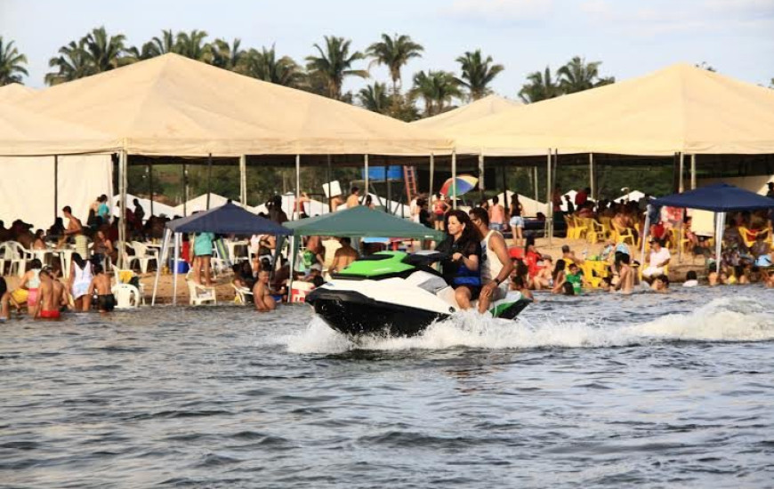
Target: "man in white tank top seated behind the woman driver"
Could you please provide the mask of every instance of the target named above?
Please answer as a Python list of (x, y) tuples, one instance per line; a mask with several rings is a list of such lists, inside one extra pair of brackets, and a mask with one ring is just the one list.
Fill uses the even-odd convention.
[(510, 287), (510, 277), (513, 262), (508, 256), (508, 246), (499, 231), (489, 226), (488, 212), (480, 207), (471, 209), (471, 221), (481, 239), (481, 293), (479, 295), (479, 312), (483, 314), (493, 301), (504, 299)]

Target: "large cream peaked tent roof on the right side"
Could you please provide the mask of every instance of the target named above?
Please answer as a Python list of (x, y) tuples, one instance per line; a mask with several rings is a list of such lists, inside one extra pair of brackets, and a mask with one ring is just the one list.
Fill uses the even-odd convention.
[(490, 156), (774, 154), (774, 90), (688, 64), (511, 108), (444, 132)]

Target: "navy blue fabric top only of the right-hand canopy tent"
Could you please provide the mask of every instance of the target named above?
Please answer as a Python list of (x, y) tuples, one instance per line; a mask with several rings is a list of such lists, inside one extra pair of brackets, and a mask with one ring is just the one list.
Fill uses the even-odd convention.
[(726, 183), (718, 183), (681, 194), (657, 198), (652, 204), (714, 212), (734, 212), (772, 209), (774, 208), (774, 198), (761, 196)]

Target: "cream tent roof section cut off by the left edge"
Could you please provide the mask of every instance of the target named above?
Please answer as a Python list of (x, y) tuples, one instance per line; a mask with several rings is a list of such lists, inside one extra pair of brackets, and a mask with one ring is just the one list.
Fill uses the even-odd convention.
[(109, 153), (116, 138), (81, 124), (36, 114), (18, 104), (0, 105), (0, 156)]

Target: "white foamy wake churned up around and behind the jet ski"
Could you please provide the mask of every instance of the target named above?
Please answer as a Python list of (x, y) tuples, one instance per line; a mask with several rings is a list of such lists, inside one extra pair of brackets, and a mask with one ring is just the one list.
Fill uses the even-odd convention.
[(515, 323), (474, 312), (431, 325), (412, 338), (360, 337), (336, 333), (315, 317), (305, 331), (286, 338), (291, 353), (343, 353), (351, 349), (537, 349), (606, 348), (677, 341), (771, 341), (774, 318), (753, 299), (722, 298), (687, 314), (668, 314), (638, 325), (604, 325), (556, 315)]

